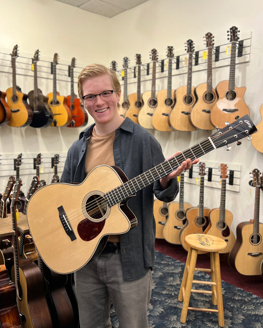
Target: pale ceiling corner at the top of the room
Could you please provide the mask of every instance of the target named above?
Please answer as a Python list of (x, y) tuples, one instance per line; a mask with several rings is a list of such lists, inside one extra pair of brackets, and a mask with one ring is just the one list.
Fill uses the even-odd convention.
[(105, 17), (113, 17), (148, 0), (56, 0)]

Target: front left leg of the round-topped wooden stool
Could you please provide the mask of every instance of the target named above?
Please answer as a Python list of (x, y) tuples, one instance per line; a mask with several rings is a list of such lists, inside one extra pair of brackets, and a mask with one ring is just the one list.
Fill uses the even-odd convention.
[(192, 289), (192, 281), (193, 281), (193, 275), (194, 275), (194, 269), (197, 259), (197, 253), (198, 250), (192, 249), (191, 250), (191, 258), (190, 258), (190, 264), (189, 264), (189, 272), (188, 272), (188, 278), (187, 278), (187, 284), (186, 284), (186, 290), (185, 290), (185, 297), (184, 297), (184, 303), (181, 313), (181, 323), (185, 324), (187, 321), (187, 313), (188, 313), (188, 305), (191, 295), (191, 289)]

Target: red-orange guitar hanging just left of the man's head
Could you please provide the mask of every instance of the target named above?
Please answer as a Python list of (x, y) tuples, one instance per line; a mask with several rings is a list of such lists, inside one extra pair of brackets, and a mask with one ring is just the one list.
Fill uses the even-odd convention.
[(88, 113), (84, 106), (80, 103), (80, 99), (74, 93), (74, 67), (76, 66), (75, 57), (71, 60), (70, 78), (71, 78), (71, 94), (67, 97), (67, 105), (71, 110), (71, 123), (69, 128), (83, 127), (88, 123)]

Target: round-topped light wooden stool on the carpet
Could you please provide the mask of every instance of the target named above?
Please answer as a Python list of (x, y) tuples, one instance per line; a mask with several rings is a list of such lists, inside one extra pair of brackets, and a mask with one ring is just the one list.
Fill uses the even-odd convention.
[[(226, 247), (225, 240), (208, 234), (193, 233), (188, 234), (185, 241), (189, 244), (187, 262), (181, 283), (180, 293), (178, 300), (184, 301), (181, 323), (185, 324), (187, 320), (188, 310), (203, 311), (203, 312), (216, 312), (218, 313), (218, 324), (220, 327), (225, 326), (224, 320), (224, 308), (221, 286), (221, 274), (220, 274), (220, 261), (219, 251)], [(196, 268), (196, 260), (198, 250), (210, 252), (210, 269)], [(193, 280), (194, 271), (211, 272), (211, 281)], [(212, 291), (195, 290), (192, 289), (192, 284), (211, 285)], [(189, 307), (189, 299), (191, 293), (204, 293), (212, 295), (213, 305), (217, 305), (216, 309)]]

